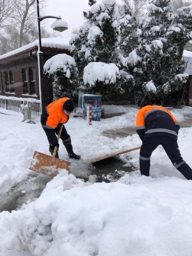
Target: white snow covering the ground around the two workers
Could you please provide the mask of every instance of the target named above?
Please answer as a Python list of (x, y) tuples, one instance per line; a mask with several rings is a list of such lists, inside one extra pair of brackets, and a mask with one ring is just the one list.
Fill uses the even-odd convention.
[[(134, 171), (118, 181), (98, 183), (90, 175), (90, 159), (141, 145), (137, 134), (115, 140), (102, 134), (135, 125), (137, 107), (111, 108), (126, 113), (92, 126), (81, 117), (70, 118), (65, 127), (81, 159), (70, 160), (60, 142), (59, 155), (71, 161), (70, 174), (62, 169), (39, 198), (0, 213), (0, 256), (192, 255), (192, 181), (172, 166), (161, 146), (151, 156), (151, 177), (140, 175), (139, 150), (120, 156)], [(192, 114), (190, 107), (171, 111), (178, 121)], [(21, 122), (21, 113), (0, 112), (3, 197), (18, 183), (24, 186), (29, 177), (41, 178), (29, 164), (34, 150), (49, 154), (49, 145), (39, 117), (33, 117), (34, 124)], [(180, 151), (192, 167), (191, 137), (192, 128), (180, 128)]]

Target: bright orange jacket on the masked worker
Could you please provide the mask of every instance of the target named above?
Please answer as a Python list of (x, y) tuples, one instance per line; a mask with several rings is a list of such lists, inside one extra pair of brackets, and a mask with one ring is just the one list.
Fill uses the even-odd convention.
[(71, 114), (67, 116), (63, 110), (64, 102), (68, 99), (69, 98), (67, 97), (57, 99), (47, 106), (47, 113), (49, 116), (47, 118), (46, 128), (55, 129), (59, 123), (65, 124), (69, 120)]

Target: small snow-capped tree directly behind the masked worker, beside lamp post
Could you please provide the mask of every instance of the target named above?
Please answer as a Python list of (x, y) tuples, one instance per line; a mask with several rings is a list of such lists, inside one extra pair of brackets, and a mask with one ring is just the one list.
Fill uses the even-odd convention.
[(44, 74), (54, 79), (54, 99), (71, 97), (76, 93), (77, 68), (70, 55), (61, 53), (47, 60), (44, 64)]

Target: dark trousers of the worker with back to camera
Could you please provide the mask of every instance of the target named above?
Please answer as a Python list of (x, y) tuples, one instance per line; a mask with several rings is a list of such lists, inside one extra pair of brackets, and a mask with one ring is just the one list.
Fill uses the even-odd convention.
[(140, 172), (141, 175), (149, 176), (150, 157), (152, 152), (158, 145), (162, 145), (172, 164), (177, 170), (186, 177), (187, 180), (192, 180), (192, 169), (185, 163), (181, 157), (177, 138), (175, 137), (144, 137), (143, 144), (140, 149)]

